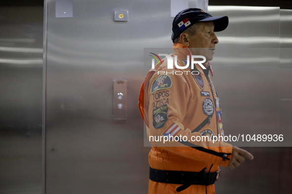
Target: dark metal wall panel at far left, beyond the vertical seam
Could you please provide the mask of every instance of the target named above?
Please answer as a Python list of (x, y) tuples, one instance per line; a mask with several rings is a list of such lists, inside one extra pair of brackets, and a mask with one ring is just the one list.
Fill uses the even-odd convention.
[(43, 7), (0, 7), (0, 194), (41, 194)]

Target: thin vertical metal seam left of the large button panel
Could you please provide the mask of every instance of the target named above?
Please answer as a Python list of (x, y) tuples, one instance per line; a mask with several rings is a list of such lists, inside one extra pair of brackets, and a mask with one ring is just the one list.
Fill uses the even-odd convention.
[(45, 99), (46, 99), (46, 27), (47, 0), (43, 4), (43, 45), (42, 45), (42, 194), (45, 194)]

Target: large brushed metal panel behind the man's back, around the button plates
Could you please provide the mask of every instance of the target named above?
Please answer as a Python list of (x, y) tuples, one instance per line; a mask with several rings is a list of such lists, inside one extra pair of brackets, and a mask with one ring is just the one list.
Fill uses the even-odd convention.
[[(115, 10), (129, 21), (114, 22)], [(46, 194), (147, 192), (143, 48), (171, 47), (172, 19), (168, 0), (85, 0), (64, 22), (47, 1)], [(128, 82), (126, 121), (113, 120), (115, 79)]]

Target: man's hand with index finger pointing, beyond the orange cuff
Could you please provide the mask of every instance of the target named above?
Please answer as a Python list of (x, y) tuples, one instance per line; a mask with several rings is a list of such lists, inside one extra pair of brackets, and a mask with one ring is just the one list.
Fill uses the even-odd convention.
[(253, 156), (246, 150), (240, 149), (236, 146), (232, 147), (232, 157), (227, 167), (231, 170), (240, 166), (240, 163), (245, 162), (245, 158), (252, 160)]

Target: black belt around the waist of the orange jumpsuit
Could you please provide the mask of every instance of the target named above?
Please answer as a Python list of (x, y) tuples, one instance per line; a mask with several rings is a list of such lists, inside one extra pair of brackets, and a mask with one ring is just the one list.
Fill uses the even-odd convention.
[(191, 185), (212, 185), (215, 183), (218, 172), (200, 172), (158, 170), (150, 167), (149, 178), (151, 181), (169, 184), (183, 184), (176, 188), (177, 192), (187, 189)]

